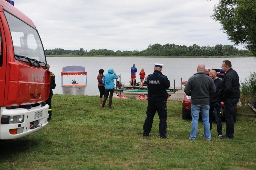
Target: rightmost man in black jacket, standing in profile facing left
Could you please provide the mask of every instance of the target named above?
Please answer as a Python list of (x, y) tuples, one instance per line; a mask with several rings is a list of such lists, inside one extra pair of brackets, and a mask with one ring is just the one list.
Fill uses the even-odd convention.
[(240, 98), (239, 90), (239, 76), (235, 70), (233, 70), (231, 62), (224, 60), (221, 65), (222, 70), (225, 72), (220, 84), (220, 97), (219, 101), (224, 102), (225, 118), (226, 118), (226, 135), (221, 139), (233, 139), (234, 138), (234, 109)]

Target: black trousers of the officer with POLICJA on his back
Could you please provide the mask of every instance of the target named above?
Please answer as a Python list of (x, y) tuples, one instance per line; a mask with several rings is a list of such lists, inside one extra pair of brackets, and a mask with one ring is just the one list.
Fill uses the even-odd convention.
[(166, 138), (166, 128), (167, 128), (167, 110), (166, 110), (166, 101), (149, 101), (148, 100), (148, 109), (147, 109), (147, 117), (143, 125), (143, 135), (148, 136), (154, 116), (156, 114), (156, 111), (159, 116), (159, 134), (160, 138)]

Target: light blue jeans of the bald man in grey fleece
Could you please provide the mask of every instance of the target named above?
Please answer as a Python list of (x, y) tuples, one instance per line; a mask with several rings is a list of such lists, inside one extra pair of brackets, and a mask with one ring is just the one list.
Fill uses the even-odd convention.
[(191, 132), (189, 139), (190, 140), (196, 140), (197, 138), (197, 126), (198, 126), (198, 119), (199, 119), (199, 113), (201, 111), (201, 116), (203, 120), (203, 130), (204, 130), (204, 136), (207, 141), (211, 140), (211, 130), (210, 130), (210, 123), (209, 123), (209, 105), (193, 105), (191, 104), (191, 116), (192, 116), (192, 122), (191, 122)]

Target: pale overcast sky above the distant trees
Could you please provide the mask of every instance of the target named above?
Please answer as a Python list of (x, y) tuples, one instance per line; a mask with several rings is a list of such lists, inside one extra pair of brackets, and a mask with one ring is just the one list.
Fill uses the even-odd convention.
[(218, 2), (14, 0), (14, 6), (33, 20), (44, 49), (141, 51), (149, 44), (233, 45), (211, 18)]

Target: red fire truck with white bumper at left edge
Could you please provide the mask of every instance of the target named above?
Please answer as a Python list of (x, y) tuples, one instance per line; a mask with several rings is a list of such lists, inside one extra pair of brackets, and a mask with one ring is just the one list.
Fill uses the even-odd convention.
[(0, 4), (0, 140), (6, 140), (48, 124), (50, 71), (32, 20), (14, 2)]

